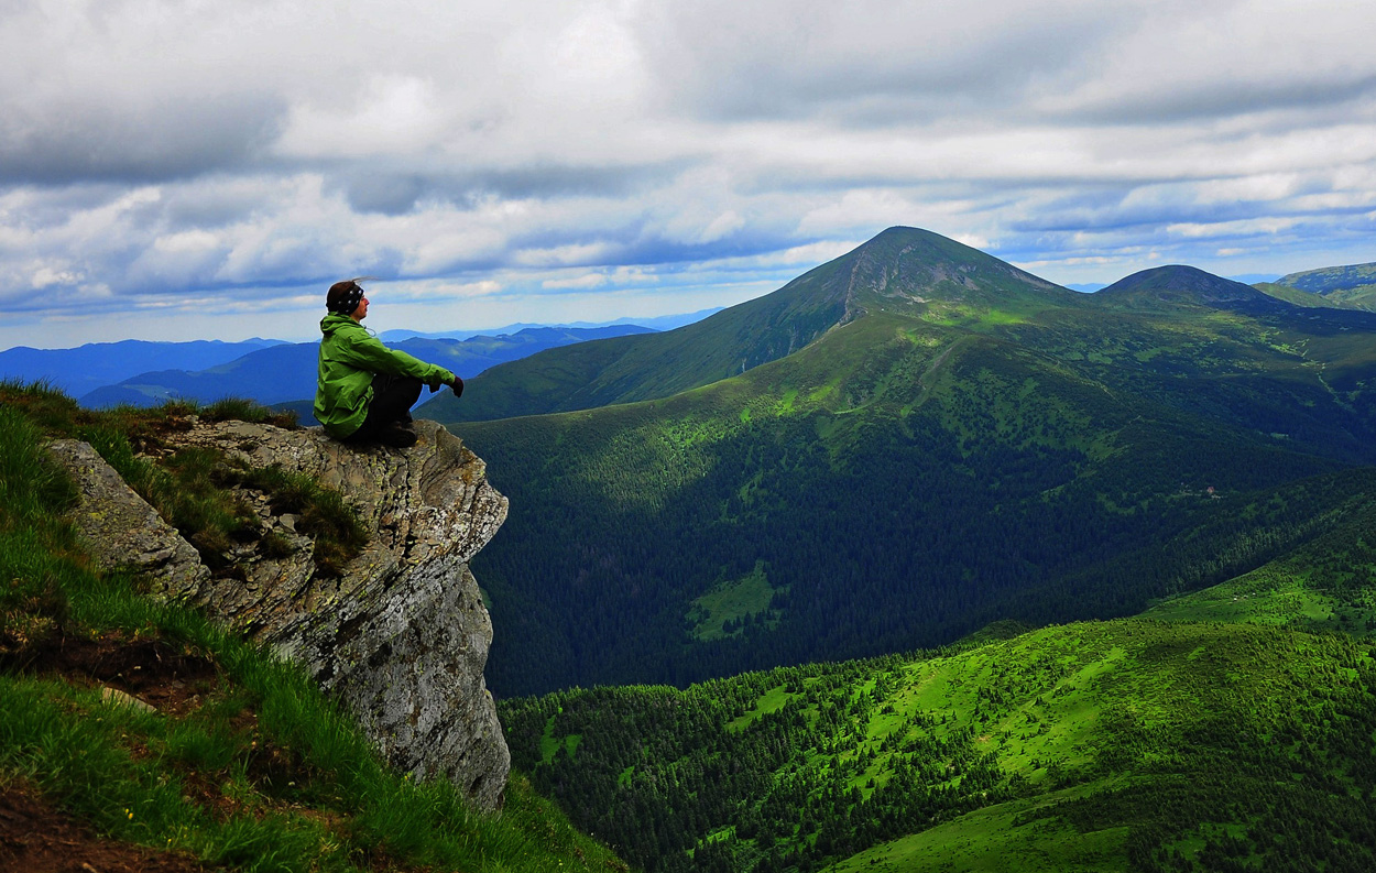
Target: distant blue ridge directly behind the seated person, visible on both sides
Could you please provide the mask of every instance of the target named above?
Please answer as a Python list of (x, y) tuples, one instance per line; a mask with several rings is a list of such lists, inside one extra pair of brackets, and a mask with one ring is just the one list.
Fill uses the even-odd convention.
[[(469, 379), (497, 364), (546, 348), (632, 333), (652, 330), (640, 325), (527, 328), (502, 336), (472, 336), (465, 340), (411, 337), (389, 344)], [(200, 370), (149, 370), (89, 391), (80, 397), (80, 402), (88, 408), (118, 403), (151, 406), (173, 398), (205, 403), (223, 397), (246, 397), (266, 405), (285, 405), (315, 395), (318, 346), (319, 343), (283, 343)]]

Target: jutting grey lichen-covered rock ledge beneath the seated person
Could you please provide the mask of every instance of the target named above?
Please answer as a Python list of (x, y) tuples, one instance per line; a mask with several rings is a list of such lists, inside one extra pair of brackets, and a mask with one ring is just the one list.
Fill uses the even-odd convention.
[(275, 649), (343, 701), (394, 764), (449, 778), (493, 810), (510, 756), (483, 680), (493, 628), (468, 560), (506, 518), (506, 498), (449, 431), (433, 421), (416, 430), (420, 441), (403, 450), (244, 421), (197, 421), (168, 438), (304, 472), (344, 494), (369, 544), (333, 578), (316, 573), (296, 519), (264, 498), (253, 501), (263, 532), (292, 548), (249, 556), (245, 578), (212, 577), (89, 446), (62, 441), (54, 452), (78, 481), (74, 518), (96, 560), (132, 565), (155, 596)]

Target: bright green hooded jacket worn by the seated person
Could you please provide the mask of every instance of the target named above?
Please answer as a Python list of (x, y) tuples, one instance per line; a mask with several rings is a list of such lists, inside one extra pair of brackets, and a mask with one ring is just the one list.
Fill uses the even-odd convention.
[(315, 383), (315, 420), (325, 432), (344, 439), (363, 424), (373, 401), (373, 376), (414, 376), (431, 388), (454, 381), (443, 366), (425, 364), (383, 344), (348, 315), (321, 319), (319, 375)]

